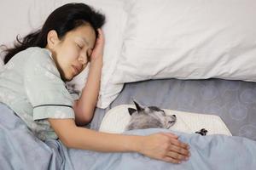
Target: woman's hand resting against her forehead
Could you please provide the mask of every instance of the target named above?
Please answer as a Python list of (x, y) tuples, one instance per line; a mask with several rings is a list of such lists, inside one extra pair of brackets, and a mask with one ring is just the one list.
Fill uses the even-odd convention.
[(98, 37), (96, 38), (95, 47), (92, 50), (92, 54), (90, 55), (90, 62), (94, 63), (95, 61), (102, 62), (105, 37), (103, 35), (102, 29), (97, 29)]

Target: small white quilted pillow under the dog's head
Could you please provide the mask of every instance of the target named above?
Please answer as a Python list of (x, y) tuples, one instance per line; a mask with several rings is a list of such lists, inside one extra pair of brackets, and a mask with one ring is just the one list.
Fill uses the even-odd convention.
[[(109, 110), (103, 117), (99, 131), (123, 133), (131, 118), (128, 107), (136, 108), (135, 105), (119, 105)], [(166, 111), (166, 115), (176, 115), (177, 117), (177, 122), (170, 128), (171, 130), (195, 133), (201, 128), (206, 128), (207, 134), (232, 135), (219, 116), (166, 109), (164, 111)]]

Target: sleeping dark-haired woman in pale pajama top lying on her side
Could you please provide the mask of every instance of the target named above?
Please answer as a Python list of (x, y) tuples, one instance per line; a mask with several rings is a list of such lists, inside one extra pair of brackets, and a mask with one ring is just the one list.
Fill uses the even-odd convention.
[[(43, 27), (7, 48), (0, 72), (0, 113), (11, 110), (42, 139), (60, 139), (69, 148), (139, 152), (161, 161), (189, 159), (189, 145), (173, 133), (147, 136), (100, 133), (80, 127), (91, 121), (102, 74), (103, 14), (84, 3), (56, 8)], [(90, 62), (79, 99), (65, 87)]]

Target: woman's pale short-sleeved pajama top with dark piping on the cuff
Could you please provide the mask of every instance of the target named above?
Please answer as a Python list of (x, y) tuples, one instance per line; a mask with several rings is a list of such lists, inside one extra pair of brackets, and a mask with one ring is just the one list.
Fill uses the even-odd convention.
[(15, 111), (42, 140), (57, 139), (47, 118), (74, 119), (73, 96), (46, 48), (27, 48), (3, 66), (0, 102)]

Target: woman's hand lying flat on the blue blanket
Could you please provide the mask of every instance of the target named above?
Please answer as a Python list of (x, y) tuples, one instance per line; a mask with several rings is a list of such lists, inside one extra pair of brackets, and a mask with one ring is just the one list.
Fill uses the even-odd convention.
[(145, 156), (180, 163), (189, 159), (189, 145), (180, 142), (172, 133), (154, 133), (145, 138), (140, 146), (140, 153)]

